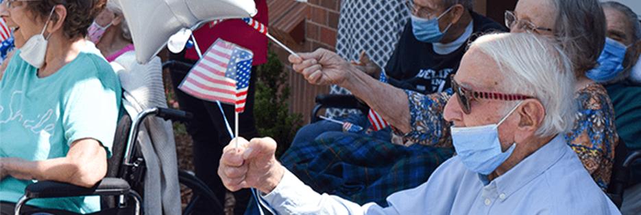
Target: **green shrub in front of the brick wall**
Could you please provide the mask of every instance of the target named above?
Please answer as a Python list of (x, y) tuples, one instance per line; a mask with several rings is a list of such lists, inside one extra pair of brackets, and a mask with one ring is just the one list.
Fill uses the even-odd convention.
[(271, 137), (278, 143), (276, 156), (280, 156), (302, 126), (302, 116), (289, 113), (289, 85), (287, 70), (276, 53), (269, 51), (267, 63), (258, 66), (254, 116), (256, 128), (263, 137)]

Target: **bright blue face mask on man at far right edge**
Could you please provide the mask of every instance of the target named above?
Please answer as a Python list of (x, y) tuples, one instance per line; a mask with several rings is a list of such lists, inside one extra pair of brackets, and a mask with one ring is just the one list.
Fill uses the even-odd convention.
[(598, 67), (588, 71), (585, 75), (596, 82), (610, 81), (623, 71), (623, 59), (627, 46), (605, 38), (605, 47), (598, 57)]

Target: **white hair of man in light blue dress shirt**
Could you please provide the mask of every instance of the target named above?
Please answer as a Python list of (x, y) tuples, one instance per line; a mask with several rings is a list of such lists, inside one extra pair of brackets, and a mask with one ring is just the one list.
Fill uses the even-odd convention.
[(570, 130), (576, 104), (568, 99), (574, 98), (576, 78), (557, 42), (533, 33), (491, 33), (472, 42), (470, 51), (474, 48), (496, 61), (503, 78), (499, 90), (533, 96), (543, 104), (545, 117), (537, 136)]

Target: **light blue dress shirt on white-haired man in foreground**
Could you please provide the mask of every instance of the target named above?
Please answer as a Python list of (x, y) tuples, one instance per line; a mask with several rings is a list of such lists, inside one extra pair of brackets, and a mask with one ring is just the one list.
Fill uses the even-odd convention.
[(388, 207), (321, 195), (289, 171), (263, 200), (278, 214), (620, 214), (561, 136), (489, 183), (450, 158)]

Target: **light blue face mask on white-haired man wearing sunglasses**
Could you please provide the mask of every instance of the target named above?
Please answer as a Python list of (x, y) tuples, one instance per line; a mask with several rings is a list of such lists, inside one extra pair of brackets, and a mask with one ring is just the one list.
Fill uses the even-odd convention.
[(465, 167), (475, 173), (489, 175), (509, 158), (516, 148), (516, 143), (503, 152), (498, 140), (498, 126), (516, 111), (520, 104), (521, 102), (516, 104), (503, 119), (500, 119), (498, 124), (475, 127), (452, 126), (450, 128), (454, 148)]

